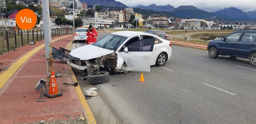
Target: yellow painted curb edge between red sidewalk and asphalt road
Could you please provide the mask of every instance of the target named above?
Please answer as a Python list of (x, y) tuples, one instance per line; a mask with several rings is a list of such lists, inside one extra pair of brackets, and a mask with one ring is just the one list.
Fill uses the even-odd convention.
[[(69, 43), (68, 47), (67, 47), (67, 50), (70, 50), (70, 47), (71, 47), (71, 44), (72, 44), (73, 40)], [(68, 68), (72, 74), (72, 79), (74, 80), (74, 82), (78, 82), (77, 79), (76, 79), (76, 75), (74, 74), (72, 68), (70, 65), (68, 65)], [(75, 86), (75, 89), (76, 89), (76, 94), (78, 96), (78, 99), (86, 113), (86, 119), (88, 120), (89, 124), (96, 124), (96, 120), (92, 114), (92, 111), (86, 101), (86, 99), (84, 98), (84, 94), (81, 90), (81, 87), (80, 85), (78, 84), (78, 86)]]

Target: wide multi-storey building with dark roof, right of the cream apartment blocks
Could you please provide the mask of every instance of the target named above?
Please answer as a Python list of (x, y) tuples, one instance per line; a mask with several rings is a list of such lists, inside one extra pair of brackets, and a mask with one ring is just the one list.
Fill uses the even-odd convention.
[(160, 13), (149, 16), (149, 18), (147, 18), (147, 22), (155, 27), (165, 27), (169, 24), (168, 18)]

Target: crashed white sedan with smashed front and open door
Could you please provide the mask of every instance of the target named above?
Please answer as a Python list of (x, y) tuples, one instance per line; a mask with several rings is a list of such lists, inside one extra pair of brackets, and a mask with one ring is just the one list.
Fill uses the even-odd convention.
[(152, 34), (120, 31), (72, 50), (67, 63), (83, 73), (150, 71), (150, 65), (163, 66), (170, 59), (171, 46)]

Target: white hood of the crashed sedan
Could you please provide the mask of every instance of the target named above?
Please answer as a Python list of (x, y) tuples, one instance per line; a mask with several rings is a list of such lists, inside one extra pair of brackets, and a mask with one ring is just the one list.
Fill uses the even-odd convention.
[(99, 48), (93, 45), (85, 45), (72, 50), (69, 55), (80, 60), (90, 60), (113, 53), (114, 50)]

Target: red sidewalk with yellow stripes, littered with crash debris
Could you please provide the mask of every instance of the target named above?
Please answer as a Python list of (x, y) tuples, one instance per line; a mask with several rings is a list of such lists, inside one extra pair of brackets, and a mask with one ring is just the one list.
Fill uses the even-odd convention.
[[(57, 36), (52, 38), (52, 46), (57, 49), (68, 48), (72, 41), (72, 35)], [(44, 97), (42, 100), (46, 102), (36, 102), (40, 92), (43, 92), (43, 88), (40, 91), (35, 89), (36, 83), (41, 78), (47, 79), (44, 41), (38, 43), (0, 56), (0, 68), (9, 66), (7, 70), (0, 71), (0, 123), (76, 120), (82, 116), (88, 123), (95, 124), (80, 87), (62, 84), (74, 83), (76, 78), (71, 68), (59, 60), (53, 60), (53, 68), (55, 73), (62, 74), (56, 77), (56, 82), (63, 95), (55, 98)]]

